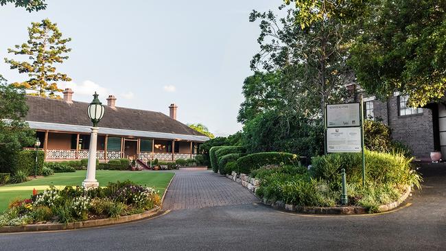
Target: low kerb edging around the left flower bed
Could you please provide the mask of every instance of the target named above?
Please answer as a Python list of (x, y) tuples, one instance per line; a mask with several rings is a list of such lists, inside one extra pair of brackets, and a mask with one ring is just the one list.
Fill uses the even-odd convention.
[(118, 218), (107, 218), (107, 219), (91, 219), (84, 222), (70, 222), (68, 224), (27, 224), (23, 226), (3, 226), (0, 227), (0, 233), (8, 233), (8, 232), (34, 232), (34, 231), (55, 231), (55, 230), (72, 230), (78, 228), (92, 228), (97, 226), (108, 226), (113, 224), (121, 224), (126, 222), (134, 222), (140, 219), (148, 219), (150, 217), (154, 217), (161, 211), (161, 207), (163, 206), (164, 198), (167, 193), (167, 190), (172, 183), (172, 180), (175, 178), (172, 176), (169, 184), (164, 191), (163, 198), (161, 198), (161, 206), (156, 206), (155, 208), (150, 209), (149, 211), (145, 211), (144, 213), (137, 213), (134, 215), (124, 215)]

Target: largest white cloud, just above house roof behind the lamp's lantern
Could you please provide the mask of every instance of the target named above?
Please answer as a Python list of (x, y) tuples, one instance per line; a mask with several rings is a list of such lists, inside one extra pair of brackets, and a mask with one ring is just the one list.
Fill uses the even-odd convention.
[[(89, 99), (93, 99), (93, 94), (95, 92), (99, 94), (99, 98), (102, 99), (110, 95), (110, 91), (107, 88), (102, 87), (91, 80), (85, 80), (81, 84), (78, 84), (76, 82), (62, 82), (59, 84), (59, 88), (71, 88), (71, 90), (73, 90), (74, 92), (74, 100), (86, 100), (86, 97), (88, 97)], [(80, 97), (80, 99), (78, 99), (77, 97)], [(86, 101), (91, 101), (89, 99)]]

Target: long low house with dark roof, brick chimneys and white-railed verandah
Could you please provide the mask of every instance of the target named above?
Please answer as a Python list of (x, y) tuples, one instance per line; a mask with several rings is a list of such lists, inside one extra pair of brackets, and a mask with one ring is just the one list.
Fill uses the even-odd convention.
[[(89, 157), (92, 123), (89, 103), (74, 101), (67, 88), (62, 99), (27, 96), (30, 110), (25, 121), (36, 130), (45, 160), (77, 160)], [(176, 120), (177, 106), (169, 106), (169, 116), (161, 112), (116, 106), (107, 98), (105, 114), (99, 122), (97, 158), (135, 160), (177, 160), (193, 158), (200, 143), (209, 138)], [(30, 148), (32, 149), (32, 148)]]

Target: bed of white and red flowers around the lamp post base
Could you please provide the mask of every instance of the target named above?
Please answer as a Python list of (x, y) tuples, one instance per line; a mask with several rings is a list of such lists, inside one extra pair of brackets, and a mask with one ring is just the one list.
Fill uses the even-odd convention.
[(143, 213), (161, 205), (159, 192), (130, 181), (110, 182), (108, 187), (50, 187), (27, 200), (11, 202), (0, 215), (0, 226), (81, 222)]

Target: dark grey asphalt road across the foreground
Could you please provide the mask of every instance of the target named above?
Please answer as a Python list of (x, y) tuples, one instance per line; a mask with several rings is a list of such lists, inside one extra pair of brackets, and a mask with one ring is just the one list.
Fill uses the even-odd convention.
[(296, 215), (261, 204), (187, 208), (141, 222), (0, 235), (0, 250), (446, 250), (446, 167), (392, 213)]

